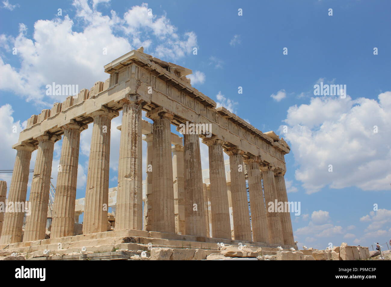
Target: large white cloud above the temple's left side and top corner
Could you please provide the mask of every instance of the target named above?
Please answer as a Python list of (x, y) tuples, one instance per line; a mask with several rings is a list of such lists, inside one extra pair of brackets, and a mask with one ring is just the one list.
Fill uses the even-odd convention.
[(27, 34), (27, 27), (20, 24), (18, 36), (1, 35), (0, 45), (4, 49), (17, 48), (15, 57), (19, 57), (20, 68), (0, 57), (0, 72), (4, 75), (0, 89), (50, 107), (66, 96), (48, 98), (47, 84), (77, 84), (79, 89), (89, 89), (96, 81), (108, 78), (105, 64), (133, 48), (144, 46), (147, 53), (175, 60), (191, 53), (197, 45), (194, 32), (178, 34), (165, 15), (149, 16), (147, 4), (133, 6), (121, 18), (115, 11), (110, 16), (102, 15), (96, 10), (101, 2), (95, 0), (91, 7), (87, 0), (74, 0), (74, 19), (65, 15), (38, 20), (32, 33)]

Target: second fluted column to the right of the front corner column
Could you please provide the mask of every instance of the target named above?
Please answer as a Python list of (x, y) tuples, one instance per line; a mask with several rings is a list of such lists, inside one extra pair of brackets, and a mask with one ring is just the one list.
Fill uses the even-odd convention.
[(183, 135), (186, 234), (206, 237), (201, 153), (198, 134)]

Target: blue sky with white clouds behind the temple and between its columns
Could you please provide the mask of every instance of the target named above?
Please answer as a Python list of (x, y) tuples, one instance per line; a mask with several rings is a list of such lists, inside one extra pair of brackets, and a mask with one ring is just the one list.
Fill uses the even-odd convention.
[[(301, 202), (301, 215), (291, 214), (299, 247), (389, 241), (389, 1), (0, 2), (0, 169), (13, 168), (12, 127), (21, 129), (31, 114), (65, 100), (46, 96), (46, 84), (90, 89), (108, 78), (105, 64), (144, 46), (193, 70), (192, 85), (219, 105), (287, 140), (288, 197)], [(314, 96), (320, 82), (344, 84), (348, 96)], [(115, 118), (110, 187), (117, 185), (119, 124)], [(82, 133), (78, 198), (85, 193), (91, 130)], [(207, 148), (201, 150), (208, 168)], [(54, 166), (60, 152), (61, 142)], [(33, 153), (30, 168), (34, 160)], [(0, 176), (9, 186), (10, 174)]]

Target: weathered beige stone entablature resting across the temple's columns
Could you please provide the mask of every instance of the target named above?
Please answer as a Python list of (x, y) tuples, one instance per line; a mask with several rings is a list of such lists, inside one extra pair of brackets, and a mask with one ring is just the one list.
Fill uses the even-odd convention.
[[(176, 73), (177, 70), (181, 73)], [(174, 118), (171, 123), (177, 126), (186, 121), (210, 123), (213, 135), (225, 141), (224, 148), (237, 146), (245, 155), (261, 156), (265, 164), (285, 170), (283, 155), (290, 151), (287, 143), (274, 132), (269, 136), (270, 132), (263, 133), (254, 128), (224, 107), (216, 109), (213, 100), (190, 86), (185, 74), (188, 75), (191, 70), (133, 50), (106, 65), (105, 71), (111, 76), (104, 83), (97, 82), (90, 91), (82, 89), (77, 97), (72, 99), (70, 96), (63, 103), (55, 103), (51, 110), (43, 110), (38, 116), (32, 115), (27, 128), (20, 133), (19, 143), (36, 144), (36, 137), (44, 132), (61, 135), (63, 130), (60, 127), (72, 119), (91, 123), (93, 111), (103, 105), (120, 111), (119, 100), (126, 94), (139, 94), (145, 102), (143, 110), (163, 107), (172, 111)], [(114, 84), (114, 74), (118, 74), (117, 84)], [(148, 93), (149, 87), (152, 87), (152, 94)]]

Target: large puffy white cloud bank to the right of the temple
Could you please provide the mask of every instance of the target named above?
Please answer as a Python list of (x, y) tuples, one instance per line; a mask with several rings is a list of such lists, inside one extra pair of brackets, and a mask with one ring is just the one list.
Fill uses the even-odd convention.
[[(288, 109), (285, 122), (296, 180), (307, 193), (329, 185), (387, 190), (391, 182), (391, 92), (352, 100), (327, 96)], [(374, 127), (378, 132), (374, 132)], [(280, 127), (280, 131), (283, 127)], [(332, 164), (333, 172), (329, 172)]]

